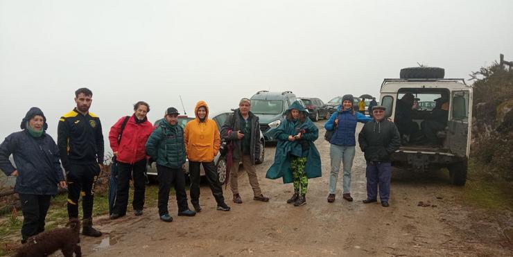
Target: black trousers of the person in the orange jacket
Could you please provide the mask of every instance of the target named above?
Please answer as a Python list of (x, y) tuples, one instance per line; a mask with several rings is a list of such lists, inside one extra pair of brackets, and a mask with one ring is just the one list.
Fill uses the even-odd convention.
[(218, 204), (225, 202), (225, 197), (223, 197), (223, 187), (219, 181), (219, 175), (217, 174), (217, 167), (214, 164), (214, 161), (189, 161), (189, 175), (191, 175), (191, 203), (200, 204), (200, 165), (203, 165), (205, 176), (209, 182), (212, 195), (216, 198), (216, 202)]

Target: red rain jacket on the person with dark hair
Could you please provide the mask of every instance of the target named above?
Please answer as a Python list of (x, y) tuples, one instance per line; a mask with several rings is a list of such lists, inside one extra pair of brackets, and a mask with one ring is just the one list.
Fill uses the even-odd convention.
[(148, 141), (151, 132), (153, 132), (153, 125), (147, 118), (144, 118), (141, 122), (137, 122), (135, 119), (135, 115), (128, 118), (121, 136), (121, 142), (119, 143), (118, 138), (121, 133), (121, 125), (125, 121), (125, 116), (110, 127), (110, 148), (112, 148), (112, 152), (118, 152), (116, 160), (122, 163), (133, 164), (146, 158), (144, 145)]

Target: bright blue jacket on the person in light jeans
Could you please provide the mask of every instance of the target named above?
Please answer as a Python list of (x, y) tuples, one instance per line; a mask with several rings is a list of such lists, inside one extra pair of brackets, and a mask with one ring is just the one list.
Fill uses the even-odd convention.
[(371, 121), (371, 118), (361, 114), (360, 112), (354, 112), (353, 108), (341, 110), (342, 105), (339, 105), (337, 108), (337, 112), (334, 112), (326, 124), (324, 124), (324, 128), (326, 130), (333, 130), (333, 125), (335, 124), (335, 119), (338, 118), (338, 126), (336, 126), (335, 132), (333, 132), (333, 136), (331, 136), (331, 141), (329, 143), (333, 143), (334, 145), (347, 145), (354, 146), (356, 145), (355, 132), (356, 132), (356, 123), (359, 121), (361, 123), (367, 123)]

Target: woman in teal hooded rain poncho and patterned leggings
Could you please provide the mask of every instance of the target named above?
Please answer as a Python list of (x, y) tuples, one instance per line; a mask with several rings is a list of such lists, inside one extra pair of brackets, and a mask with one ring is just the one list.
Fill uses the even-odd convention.
[(275, 162), (267, 171), (266, 178), (283, 178), (284, 184), (293, 182), (294, 194), (288, 204), (306, 204), (308, 179), (321, 177), (321, 161), (313, 144), (319, 130), (308, 118), (306, 109), (295, 101), (286, 111), (286, 119), (275, 130), (278, 140)]

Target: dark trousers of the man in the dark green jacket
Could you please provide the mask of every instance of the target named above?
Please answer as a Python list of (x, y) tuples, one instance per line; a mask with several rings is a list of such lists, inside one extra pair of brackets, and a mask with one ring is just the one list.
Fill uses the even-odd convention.
[(159, 215), (168, 214), (169, 190), (175, 187), (178, 212), (189, 210), (187, 193), (185, 192), (185, 172), (182, 168), (169, 168), (157, 164), (159, 179)]

